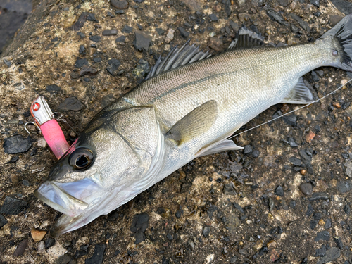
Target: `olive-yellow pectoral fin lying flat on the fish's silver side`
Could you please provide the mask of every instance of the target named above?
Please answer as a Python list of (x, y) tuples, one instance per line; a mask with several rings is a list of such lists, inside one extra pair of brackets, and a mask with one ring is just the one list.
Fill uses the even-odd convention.
[(175, 140), (180, 146), (207, 132), (216, 118), (218, 118), (218, 103), (214, 100), (207, 101), (185, 115), (171, 127), (165, 136)]

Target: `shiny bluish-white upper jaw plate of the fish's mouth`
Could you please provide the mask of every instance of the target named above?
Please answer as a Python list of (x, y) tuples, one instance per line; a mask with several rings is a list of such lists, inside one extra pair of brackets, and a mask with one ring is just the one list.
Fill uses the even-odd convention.
[(87, 209), (88, 204), (63, 191), (53, 182), (44, 182), (34, 191), (34, 196), (51, 208), (65, 215), (75, 217)]

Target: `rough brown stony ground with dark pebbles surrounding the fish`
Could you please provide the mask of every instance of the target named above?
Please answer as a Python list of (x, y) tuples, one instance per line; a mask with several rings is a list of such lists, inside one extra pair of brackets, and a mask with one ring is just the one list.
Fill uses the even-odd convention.
[[(352, 12), (336, 0), (111, 4), (43, 1), (4, 51), (0, 143), (18, 153), (0, 151), (0, 263), (352, 263), (351, 84), (241, 134), (243, 151), (197, 158), (110, 215), (46, 233), (60, 213), (33, 191), (55, 157), (34, 127), (30, 136), (23, 128), (38, 95), (79, 133), (170, 46), (191, 38), (215, 53), (241, 24), (268, 44), (313, 42)], [(304, 79), (321, 97), (349, 77), (319, 68)], [(296, 107), (272, 106), (241, 131)], [(61, 125), (72, 143), (77, 133)]]

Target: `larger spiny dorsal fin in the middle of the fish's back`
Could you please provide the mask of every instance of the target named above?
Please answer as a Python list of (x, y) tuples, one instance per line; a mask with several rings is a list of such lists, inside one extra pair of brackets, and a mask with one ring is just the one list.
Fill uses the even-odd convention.
[(199, 46), (195, 46), (194, 44), (189, 46), (190, 41), (191, 39), (189, 39), (181, 48), (177, 48), (177, 45), (174, 46), (163, 60), (161, 60), (160, 56), (158, 61), (156, 61), (155, 65), (151, 68), (151, 71), (146, 76), (145, 80), (148, 80), (159, 73), (163, 73), (166, 70), (170, 70), (187, 63), (193, 63), (194, 61), (201, 61), (203, 58), (209, 58), (211, 56), (209, 51), (199, 51)]

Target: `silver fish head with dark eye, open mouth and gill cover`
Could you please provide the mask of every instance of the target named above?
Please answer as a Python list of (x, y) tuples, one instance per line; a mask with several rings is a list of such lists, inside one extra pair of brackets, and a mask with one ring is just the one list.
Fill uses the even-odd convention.
[(63, 213), (51, 234), (76, 230), (155, 183), (161, 136), (153, 108), (108, 111), (94, 118), (34, 191)]

